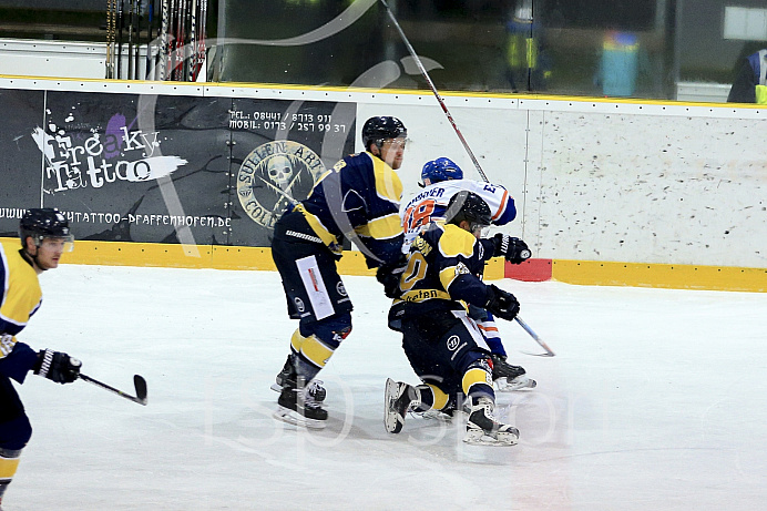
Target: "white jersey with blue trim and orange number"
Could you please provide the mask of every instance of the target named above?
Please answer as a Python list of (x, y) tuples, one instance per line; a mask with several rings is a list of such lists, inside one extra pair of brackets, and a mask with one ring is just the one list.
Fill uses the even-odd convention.
[(505, 225), (517, 217), (517, 206), (509, 192), (501, 185), (473, 180), (450, 180), (431, 184), (405, 204), (400, 211), (405, 243), (402, 252), (410, 251), (410, 244), (429, 222), (444, 221), (444, 212), (450, 198), (461, 191), (473, 192), (488, 203), (492, 212), (493, 225)]

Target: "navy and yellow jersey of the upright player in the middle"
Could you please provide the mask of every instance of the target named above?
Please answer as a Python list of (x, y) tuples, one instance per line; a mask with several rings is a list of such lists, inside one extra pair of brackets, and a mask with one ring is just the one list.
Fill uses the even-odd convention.
[(346, 156), (326, 172), (295, 208), (333, 252), (342, 237), (356, 242), (369, 266), (393, 263), (402, 245), (402, 182), (370, 153)]

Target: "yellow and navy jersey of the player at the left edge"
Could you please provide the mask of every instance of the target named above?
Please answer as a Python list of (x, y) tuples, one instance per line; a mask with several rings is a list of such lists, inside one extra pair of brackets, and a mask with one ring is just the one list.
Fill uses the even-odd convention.
[(7, 253), (0, 245), (0, 375), (21, 382), (37, 360), (37, 354), (17, 335), (42, 304), (38, 274), (19, 252)]

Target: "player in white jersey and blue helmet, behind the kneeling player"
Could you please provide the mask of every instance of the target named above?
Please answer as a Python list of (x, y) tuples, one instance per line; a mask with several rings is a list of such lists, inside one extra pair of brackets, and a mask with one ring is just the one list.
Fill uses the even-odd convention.
[[(461, 167), (448, 157), (439, 157), (423, 165), (421, 186), (423, 190), (407, 202), (401, 212), (405, 231), (402, 251), (406, 253), (429, 222), (444, 221), (450, 198), (462, 190), (475, 193), (490, 206), (492, 225), (507, 225), (517, 217), (514, 200), (503, 186), (464, 180)], [(529, 255), (529, 249), (523, 241), (501, 233), (495, 234), (492, 239), (497, 246), (508, 247), (499, 251), (499, 255), (503, 255), (508, 262), (521, 264), (526, 260), (528, 257), (522, 254), (526, 251)], [(492, 351), (493, 381), (498, 389), (509, 391), (535, 387), (535, 380), (526, 376), (524, 368), (507, 361), (507, 351), (492, 314), (474, 306), (470, 307), (469, 314), (482, 330)]]

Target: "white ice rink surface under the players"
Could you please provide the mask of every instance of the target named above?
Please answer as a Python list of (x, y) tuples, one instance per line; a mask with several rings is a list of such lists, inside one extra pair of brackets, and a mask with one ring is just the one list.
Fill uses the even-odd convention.
[(453, 422), (382, 425), (387, 377), (417, 382), (388, 300), (346, 277), (354, 331), (323, 370), (329, 425), (276, 421), (296, 323), (279, 277), (63, 265), (20, 338), (83, 360), (84, 381), (30, 375), (34, 433), (6, 511), (755, 510), (767, 502), (767, 295), (502, 280), (521, 316), (500, 324), (538, 380), (499, 394), (515, 447), (462, 443)]

